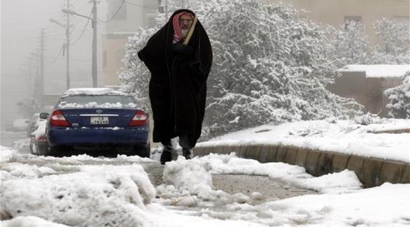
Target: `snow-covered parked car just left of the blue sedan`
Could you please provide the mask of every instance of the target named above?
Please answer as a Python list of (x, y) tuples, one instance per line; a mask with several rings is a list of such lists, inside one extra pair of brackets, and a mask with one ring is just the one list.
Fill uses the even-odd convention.
[[(39, 116), (39, 114), (38, 114)], [(45, 120), (38, 121), (35, 125), (34, 131), (30, 134), (30, 152), (31, 154), (44, 155), (46, 151), (47, 142), (45, 141)]]

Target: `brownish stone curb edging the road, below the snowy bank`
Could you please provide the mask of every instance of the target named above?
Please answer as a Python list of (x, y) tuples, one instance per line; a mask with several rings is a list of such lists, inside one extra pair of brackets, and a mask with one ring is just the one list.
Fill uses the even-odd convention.
[(229, 154), (245, 159), (255, 159), (261, 163), (283, 162), (302, 166), (313, 176), (353, 170), (365, 186), (379, 186), (385, 182), (393, 184), (410, 183), (410, 163), (390, 161), (372, 157), (327, 152), (281, 145), (222, 145), (215, 147), (195, 147), (195, 156), (210, 153)]

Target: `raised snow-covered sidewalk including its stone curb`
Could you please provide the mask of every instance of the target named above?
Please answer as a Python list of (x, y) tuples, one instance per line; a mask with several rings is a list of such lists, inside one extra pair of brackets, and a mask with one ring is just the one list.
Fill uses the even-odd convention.
[(366, 186), (379, 186), (384, 182), (409, 184), (407, 123), (406, 120), (393, 120), (362, 126), (313, 121), (265, 125), (199, 143), (194, 153), (204, 156), (236, 152), (239, 157), (261, 163), (302, 166), (314, 176), (347, 168), (355, 171)]

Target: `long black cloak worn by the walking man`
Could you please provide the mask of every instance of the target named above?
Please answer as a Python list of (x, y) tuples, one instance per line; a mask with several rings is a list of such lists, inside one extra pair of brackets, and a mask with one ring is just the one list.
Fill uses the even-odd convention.
[(198, 21), (188, 43), (192, 54), (176, 54), (172, 48), (172, 18), (138, 52), (151, 73), (149, 95), (154, 117), (154, 142), (167, 141), (187, 134), (191, 147), (201, 136), (205, 112), (206, 80), (212, 64), (212, 47)]

